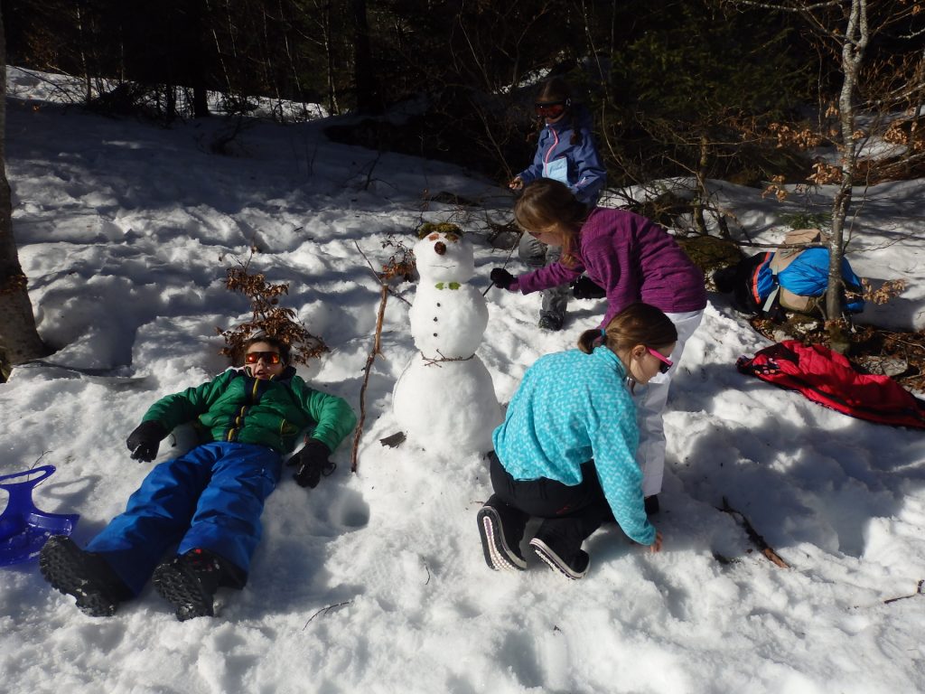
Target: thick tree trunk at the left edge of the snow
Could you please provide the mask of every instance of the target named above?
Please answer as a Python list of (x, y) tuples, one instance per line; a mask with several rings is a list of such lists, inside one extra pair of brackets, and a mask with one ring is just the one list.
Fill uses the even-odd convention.
[[(32, 304), (26, 290), (26, 276), (19, 265), (13, 239), (12, 200), (6, 180), (6, 39), (0, 12), (0, 370), (45, 356), (45, 347), (35, 329)], [(2, 378), (6, 380), (6, 378)]]

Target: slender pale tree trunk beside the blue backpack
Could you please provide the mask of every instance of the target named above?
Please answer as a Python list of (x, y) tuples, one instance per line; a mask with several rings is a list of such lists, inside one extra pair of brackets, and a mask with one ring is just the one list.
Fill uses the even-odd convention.
[(845, 219), (851, 206), (851, 191), (857, 169), (855, 141), (855, 92), (857, 77), (864, 60), (870, 32), (867, 0), (851, 0), (851, 11), (842, 43), (842, 70), (845, 80), (838, 99), (841, 125), (842, 180), (832, 204), (832, 231), (829, 245), (829, 289), (825, 296), (825, 312), (830, 320), (842, 313), (842, 259), (845, 255)]

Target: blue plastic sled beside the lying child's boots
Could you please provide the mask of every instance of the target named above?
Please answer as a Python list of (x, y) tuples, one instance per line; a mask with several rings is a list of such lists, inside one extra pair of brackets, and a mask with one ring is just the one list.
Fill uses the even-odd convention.
[[(0, 476), (0, 489), (9, 499), (0, 514), (0, 566), (27, 562), (39, 555), (45, 540), (52, 535), (70, 535), (80, 514), (46, 514), (32, 503), (35, 485), (55, 472), (55, 465), (40, 465), (31, 470)], [(32, 477), (35, 475), (39, 477)], [(16, 477), (32, 477), (22, 482), (7, 482)]]

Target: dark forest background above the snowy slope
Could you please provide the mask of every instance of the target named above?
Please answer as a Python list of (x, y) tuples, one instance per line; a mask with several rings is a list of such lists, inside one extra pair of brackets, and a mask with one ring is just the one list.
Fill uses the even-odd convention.
[[(837, 34), (839, 5), (850, 3), (832, 5), (823, 17)], [(860, 93), (873, 100), (887, 88), (884, 71), (908, 81), (921, 69), (923, 44), (910, 3), (868, 5), (883, 30), (867, 49), (869, 89)], [(498, 180), (532, 155), (539, 75), (573, 82), (595, 117), (611, 185), (692, 175), (806, 180), (812, 162), (795, 133), (825, 143), (835, 122), (827, 105), (843, 79), (837, 40), (805, 16), (720, 0), (3, 0), (2, 8), (7, 63), (80, 76), (85, 105), (107, 114), (166, 125), (204, 118), (207, 92), (242, 117), (254, 96), (276, 100), (280, 119), (283, 101), (318, 103), (363, 117), (333, 126), (333, 138)], [(907, 16), (886, 21), (897, 9)], [(409, 101), (421, 110), (401, 125), (376, 118)]]

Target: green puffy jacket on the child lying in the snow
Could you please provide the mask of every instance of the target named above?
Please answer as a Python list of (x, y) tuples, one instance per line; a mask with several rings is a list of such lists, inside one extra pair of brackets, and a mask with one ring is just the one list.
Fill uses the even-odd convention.
[(205, 440), (253, 443), (280, 454), (292, 451), (306, 428), (334, 451), (356, 426), (347, 401), (310, 388), (291, 366), (277, 379), (229, 368), (201, 386), (161, 398), (142, 418), (149, 420), (167, 431), (195, 422)]

